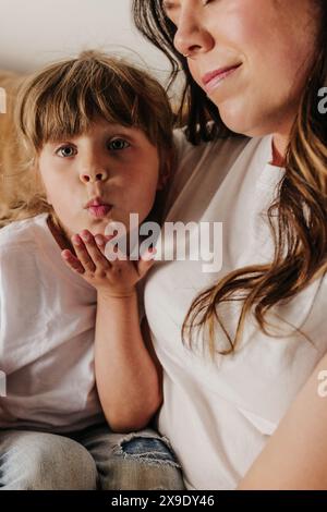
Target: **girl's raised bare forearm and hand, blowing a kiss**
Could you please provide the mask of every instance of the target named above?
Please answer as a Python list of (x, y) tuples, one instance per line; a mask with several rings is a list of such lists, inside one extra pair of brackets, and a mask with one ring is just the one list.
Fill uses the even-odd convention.
[(112, 430), (140, 430), (161, 403), (160, 369), (141, 332), (136, 292), (153, 260), (109, 261), (104, 254), (109, 239), (96, 239), (87, 231), (73, 236), (75, 255), (66, 249), (62, 257), (97, 290), (95, 373), (106, 418)]

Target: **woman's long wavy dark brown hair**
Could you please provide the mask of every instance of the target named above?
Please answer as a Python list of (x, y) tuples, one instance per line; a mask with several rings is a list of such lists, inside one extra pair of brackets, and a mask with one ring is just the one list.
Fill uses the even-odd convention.
[[(327, 114), (318, 109), (318, 90), (327, 86), (327, 2), (318, 0), (317, 4), (322, 10), (317, 58), (302, 93), (278, 197), (268, 209), (275, 243), (274, 260), (265, 266), (237, 269), (205, 290), (193, 301), (183, 324), (183, 340), (187, 336), (191, 346), (194, 328), (207, 330), (211, 355), (233, 352), (250, 313), (254, 314), (259, 328), (269, 334), (268, 310), (293, 298), (327, 270)], [(161, 0), (134, 0), (133, 12), (136, 27), (171, 62), (170, 84), (180, 69), (185, 73), (180, 119), (187, 112), (189, 141), (197, 144), (233, 135), (222, 124), (217, 107), (192, 78), (186, 60), (174, 49), (175, 26), (165, 16)], [(208, 124), (208, 120), (214, 123)], [(218, 307), (230, 301), (242, 303), (234, 337), (223, 326)], [(228, 340), (228, 346), (222, 351), (217, 350), (215, 341), (217, 322)]]

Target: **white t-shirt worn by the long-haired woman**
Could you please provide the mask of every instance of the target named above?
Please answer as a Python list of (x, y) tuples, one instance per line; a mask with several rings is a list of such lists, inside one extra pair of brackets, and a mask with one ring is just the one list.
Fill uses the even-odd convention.
[[(179, 169), (166, 221), (223, 222), (223, 259), (216, 273), (204, 273), (202, 261), (157, 261), (147, 277), (145, 309), (164, 367), (158, 428), (170, 439), (189, 489), (234, 489), (326, 352), (327, 281), (316, 280), (275, 308), (311, 341), (270, 315), (278, 339), (252, 317), (235, 353), (215, 362), (201, 344), (193, 352), (183, 345), (181, 326), (199, 291), (232, 269), (272, 260), (267, 209), (284, 170), (269, 164), (271, 136), (197, 147), (182, 132), (175, 137)], [(235, 303), (223, 306), (232, 338), (239, 313)], [(216, 332), (217, 346), (226, 348), (222, 331)]]

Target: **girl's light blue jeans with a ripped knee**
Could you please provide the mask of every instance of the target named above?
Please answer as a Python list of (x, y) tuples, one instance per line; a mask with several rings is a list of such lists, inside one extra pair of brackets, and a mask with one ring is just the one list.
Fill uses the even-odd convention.
[(0, 430), (0, 490), (184, 489), (168, 439), (155, 430)]

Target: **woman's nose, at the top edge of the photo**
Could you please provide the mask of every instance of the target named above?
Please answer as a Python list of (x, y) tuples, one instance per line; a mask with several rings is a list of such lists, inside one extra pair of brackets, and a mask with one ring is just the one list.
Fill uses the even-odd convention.
[(215, 45), (201, 20), (201, 13), (194, 12), (186, 2), (180, 12), (173, 45), (180, 53), (191, 58), (210, 50)]

